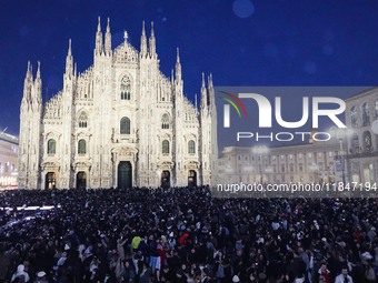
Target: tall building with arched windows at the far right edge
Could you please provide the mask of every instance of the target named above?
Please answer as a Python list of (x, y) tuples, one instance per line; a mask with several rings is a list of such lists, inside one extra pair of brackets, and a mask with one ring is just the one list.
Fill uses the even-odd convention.
[(346, 121), (351, 133), (346, 163), (348, 179), (358, 183), (378, 182), (378, 135), (371, 125), (378, 119), (378, 88), (346, 100)]

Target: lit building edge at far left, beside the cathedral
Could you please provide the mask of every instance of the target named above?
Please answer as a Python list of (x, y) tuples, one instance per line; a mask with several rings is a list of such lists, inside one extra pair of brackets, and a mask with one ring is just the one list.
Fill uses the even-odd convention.
[(14, 135), (0, 132), (0, 188), (17, 185), (18, 142)]

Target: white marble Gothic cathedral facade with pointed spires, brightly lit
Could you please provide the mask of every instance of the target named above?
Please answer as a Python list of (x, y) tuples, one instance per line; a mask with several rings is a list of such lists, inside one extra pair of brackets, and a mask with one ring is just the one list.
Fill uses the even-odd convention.
[[(206, 85), (207, 84), (207, 85)], [(179, 52), (171, 78), (159, 70), (153, 23), (140, 51), (111, 48), (100, 19), (93, 64), (77, 73), (71, 41), (63, 89), (42, 102), (40, 64), (28, 63), (20, 107), (20, 189), (186, 186), (217, 172), (212, 78), (202, 74), (200, 105), (183, 93)]]

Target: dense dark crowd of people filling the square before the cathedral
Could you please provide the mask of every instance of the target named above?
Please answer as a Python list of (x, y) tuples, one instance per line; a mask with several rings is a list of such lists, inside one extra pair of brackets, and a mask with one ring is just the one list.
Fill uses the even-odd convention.
[[(372, 283), (378, 199), (0, 192), (0, 282)], [(51, 210), (27, 208), (52, 205)]]

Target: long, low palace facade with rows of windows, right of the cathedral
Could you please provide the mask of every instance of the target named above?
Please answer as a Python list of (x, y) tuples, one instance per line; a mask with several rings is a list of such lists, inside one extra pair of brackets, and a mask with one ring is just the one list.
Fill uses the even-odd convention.
[(219, 159), (219, 182), (335, 182), (339, 143), (315, 142), (284, 146), (228, 146)]

